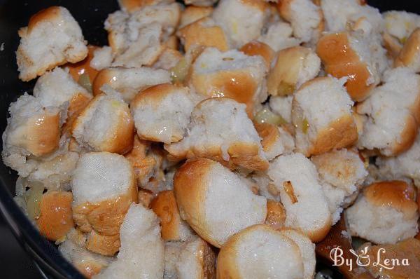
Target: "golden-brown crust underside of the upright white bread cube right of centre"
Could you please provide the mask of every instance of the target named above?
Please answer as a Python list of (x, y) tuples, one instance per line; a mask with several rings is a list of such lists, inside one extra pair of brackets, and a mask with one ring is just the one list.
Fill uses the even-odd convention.
[(328, 128), (318, 132), (318, 137), (307, 151), (307, 156), (323, 154), (332, 149), (349, 147), (358, 139), (357, 126), (351, 114), (332, 121)]

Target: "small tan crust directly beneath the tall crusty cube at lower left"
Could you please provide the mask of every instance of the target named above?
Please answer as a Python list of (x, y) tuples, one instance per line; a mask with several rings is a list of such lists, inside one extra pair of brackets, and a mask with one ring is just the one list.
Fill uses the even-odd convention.
[(104, 256), (113, 256), (120, 250), (120, 245), (119, 233), (113, 236), (104, 236), (92, 230), (87, 237), (85, 248)]

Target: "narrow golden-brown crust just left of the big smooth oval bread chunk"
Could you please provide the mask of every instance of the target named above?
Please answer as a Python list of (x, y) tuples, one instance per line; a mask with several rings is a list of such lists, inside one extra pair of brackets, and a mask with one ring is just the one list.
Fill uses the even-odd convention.
[(176, 205), (174, 191), (162, 191), (152, 200), (151, 209), (160, 218), (163, 240), (181, 240), (181, 217)]

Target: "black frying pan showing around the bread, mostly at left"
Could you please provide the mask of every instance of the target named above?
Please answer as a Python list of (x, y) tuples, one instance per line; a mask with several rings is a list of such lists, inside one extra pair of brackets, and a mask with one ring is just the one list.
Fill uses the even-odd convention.
[[(420, 13), (417, 0), (371, 0), (369, 4), (381, 11), (405, 10)], [(18, 29), (26, 26), (34, 13), (48, 6), (65, 6), (83, 29), (89, 43), (106, 44), (104, 20), (109, 13), (118, 9), (116, 0), (9, 0), (0, 1), (0, 132), (6, 128), (8, 106), (20, 95), (32, 92), (34, 81), (24, 83), (18, 79), (15, 50), (18, 48)], [(2, 146), (2, 145), (0, 145)], [(14, 171), (0, 163), (0, 211), (8, 222), (20, 244), (34, 258), (45, 275), (50, 278), (83, 278), (71, 264), (59, 254), (57, 248), (34, 229), (13, 201), (15, 194)]]

